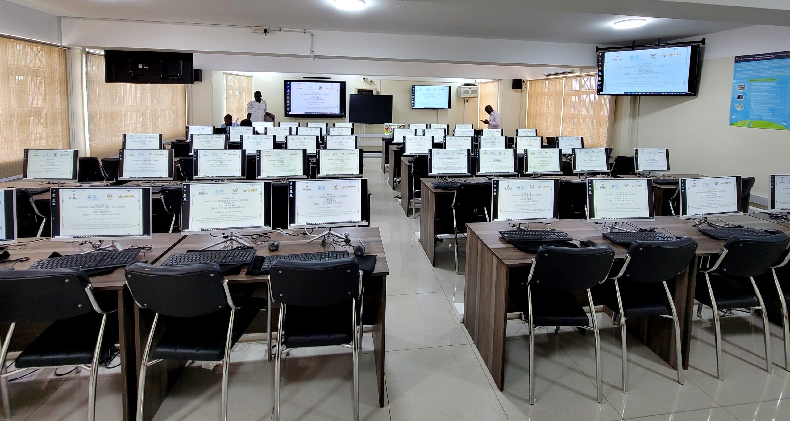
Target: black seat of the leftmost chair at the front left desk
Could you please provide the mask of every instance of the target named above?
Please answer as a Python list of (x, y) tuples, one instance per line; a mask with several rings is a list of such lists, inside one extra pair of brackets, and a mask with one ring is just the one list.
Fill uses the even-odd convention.
[[(14, 365), (23, 367), (55, 367), (90, 364), (102, 315), (91, 311), (52, 323), (24, 348)], [(118, 343), (118, 312), (107, 315), (100, 355)]]

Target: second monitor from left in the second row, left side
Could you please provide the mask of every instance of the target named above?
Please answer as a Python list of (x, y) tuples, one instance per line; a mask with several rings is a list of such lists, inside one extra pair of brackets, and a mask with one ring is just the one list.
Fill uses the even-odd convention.
[(172, 149), (122, 149), (119, 151), (119, 180), (172, 180)]

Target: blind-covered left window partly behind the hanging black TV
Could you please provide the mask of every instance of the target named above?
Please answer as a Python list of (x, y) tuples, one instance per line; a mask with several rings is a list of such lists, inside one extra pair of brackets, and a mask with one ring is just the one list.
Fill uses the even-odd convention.
[(186, 86), (107, 84), (104, 57), (85, 56), (88, 91), (88, 155), (118, 155), (124, 133), (162, 133), (164, 140), (186, 136)]

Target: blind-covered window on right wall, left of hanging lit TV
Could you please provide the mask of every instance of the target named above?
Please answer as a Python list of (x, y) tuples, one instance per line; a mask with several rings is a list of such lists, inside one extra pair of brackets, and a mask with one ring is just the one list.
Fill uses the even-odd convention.
[(541, 136), (584, 136), (589, 147), (610, 146), (614, 102), (596, 95), (596, 83), (596, 75), (530, 80), (527, 127)]

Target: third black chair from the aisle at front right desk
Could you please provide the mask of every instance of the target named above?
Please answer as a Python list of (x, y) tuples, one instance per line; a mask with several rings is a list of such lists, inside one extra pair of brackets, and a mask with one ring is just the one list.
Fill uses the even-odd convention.
[[(724, 308), (760, 309), (766, 336), (766, 371), (773, 373), (768, 311), (766, 311), (766, 304), (762, 301), (760, 290), (754, 283), (754, 277), (774, 266), (784, 250), (788, 248), (788, 243), (790, 243), (790, 238), (784, 234), (774, 234), (769, 237), (730, 237), (724, 242), (713, 266), (710, 266), (708, 262), (708, 267), (700, 269), (700, 272), (705, 274), (705, 282), (697, 282), (694, 299), (699, 301), (698, 317), (702, 317), (703, 304), (713, 309), (713, 326), (716, 330), (716, 371), (719, 380), (724, 380), (721, 375), (719, 316), (719, 309)], [(751, 289), (737, 278), (749, 278)]]

